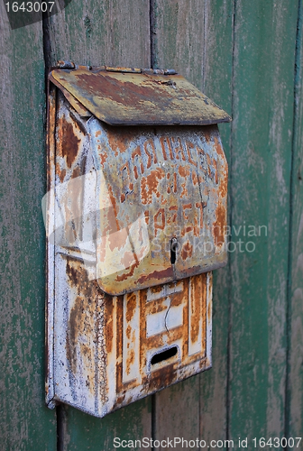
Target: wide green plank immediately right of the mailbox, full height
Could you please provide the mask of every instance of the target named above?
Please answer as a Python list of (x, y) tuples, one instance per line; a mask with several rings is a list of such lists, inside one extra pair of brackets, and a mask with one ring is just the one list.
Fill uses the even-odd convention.
[(297, 12), (297, 1), (235, 2), (232, 238), (238, 249), (243, 241), (243, 252), (231, 255), (229, 436), (234, 440), (284, 432)]

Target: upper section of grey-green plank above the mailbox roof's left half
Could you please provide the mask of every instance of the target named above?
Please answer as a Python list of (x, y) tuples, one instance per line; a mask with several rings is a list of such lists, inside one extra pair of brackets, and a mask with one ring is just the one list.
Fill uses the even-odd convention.
[(149, 68), (148, 0), (74, 1), (50, 18), (48, 62)]

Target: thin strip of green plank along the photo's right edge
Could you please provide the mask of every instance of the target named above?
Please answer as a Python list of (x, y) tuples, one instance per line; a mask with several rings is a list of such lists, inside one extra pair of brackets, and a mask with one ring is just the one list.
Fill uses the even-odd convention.
[(303, 46), (302, 2), (298, 8), (295, 72), (295, 122), (291, 189), (290, 280), (289, 280), (289, 406), (288, 437), (300, 437), (303, 430)]

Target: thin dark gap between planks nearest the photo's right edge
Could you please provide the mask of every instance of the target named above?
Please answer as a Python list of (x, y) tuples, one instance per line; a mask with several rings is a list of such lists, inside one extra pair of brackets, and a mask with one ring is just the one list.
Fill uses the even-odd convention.
[[(298, 133), (298, 104), (300, 101), (299, 82), (301, 77), (300, 55), (302, 46), (302, 26), (303, 26), (303, 11), (302, 0), (298, 0), (298, 19), (297, 19), (297, 35), (296, 35), (296, 50), (295, 50), (295, 67), (294, 67), (294, 102), (293, 102), (293, 123), (292, 123), (292, 143), (291, 143), (291, 166), (290, 166), (290, 187), (289, 187), (289, 256), (288, 256), (288, 278), (287, 278), (287, 308), (286, 308), (286, 376), (285, 376), (285, 409), (284, 409), (284, 437), (289, 437), (290, 426), (290, 399), (291, 387), (289, 381), (290, 372), (290, 357), (291, 357), (291, 266), (292, 266), (292, 226), (293, 226), (293, 198), (294, 198), (294, 184), (296, 180), (295, 169), (295, 153)], [(287, 448), (289, 449), (289, 448)]]

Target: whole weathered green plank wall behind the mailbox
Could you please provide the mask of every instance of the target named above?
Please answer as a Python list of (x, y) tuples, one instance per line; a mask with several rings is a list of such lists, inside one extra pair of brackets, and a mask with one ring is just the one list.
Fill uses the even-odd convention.
[[(303, 436), (302, 17), (302, 0), (72, 0), (12, 31), (0, 4), (1, 449), (103, 451), (114, 437), (234, 449), (248, 437), (254, 449), (253, 437)], [(220, 126), (232, 235), (215, 273), (213, 369), (105, 419), (43, 401), (45, 73), (56, 60), (177, 69), (233, 116)]]

